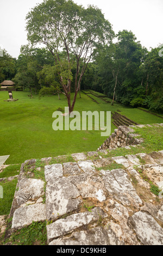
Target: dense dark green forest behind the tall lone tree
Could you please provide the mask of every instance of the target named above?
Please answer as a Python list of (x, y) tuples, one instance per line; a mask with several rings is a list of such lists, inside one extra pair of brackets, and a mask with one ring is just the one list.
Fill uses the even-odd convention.
[[(80, 68), (84, 67), (80, 90), (93, 89), (104, 93), (112, 99), (111, 104), (116, 101), (130, 107), (163, 112), (161, 46), (148, 51), (134, 33), (127, 30), (117, 35), (112, 32), (112, 39), (116, 42), (110, 40), (109, 44), (98, 47), (85, 66), (84, 58), (80, 59)], [(32, 96), (36, 93), (59, 95), (61, 76), (71, 82), (71, 92), (74, 92), (78, 59), (75, 53), (68, 55), (73, 59), (70, 72), (65, 52), (64, 48), (58, 52), (61, 59), (58, 63), (48, 47), (24, 45), (17, 59), (4, 50), (3, 57), (0, 57), (0, 80), (12, 80), (17, 90), (30, 90)]]

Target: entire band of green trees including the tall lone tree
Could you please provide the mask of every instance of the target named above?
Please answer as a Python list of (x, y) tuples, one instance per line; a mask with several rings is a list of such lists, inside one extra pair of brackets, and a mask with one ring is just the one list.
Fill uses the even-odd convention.
[(115, 35), (99, 8), (72, 0), (44, 0), (26, 21), (29, 44), (17, 60), (3, 50), (1, 81), (13, 80), (31, 95), (62, 93), (70, 112), (80, 88), (108, 95), (112, 105), (163, 111), (162, 46), (148, 51), (126, 29)]

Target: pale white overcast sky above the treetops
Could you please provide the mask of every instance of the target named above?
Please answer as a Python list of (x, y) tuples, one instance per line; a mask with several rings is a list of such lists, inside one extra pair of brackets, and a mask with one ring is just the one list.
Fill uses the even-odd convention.
[[(0, 0), (0, 46), (14, 58), (28, 43), (26, 15), (43, 0)], [(109, 20), (115, 33), (127, 29), (148, 50), (163, 43), (163, 0), (74, 0), (87, 7), (96, 5)]]

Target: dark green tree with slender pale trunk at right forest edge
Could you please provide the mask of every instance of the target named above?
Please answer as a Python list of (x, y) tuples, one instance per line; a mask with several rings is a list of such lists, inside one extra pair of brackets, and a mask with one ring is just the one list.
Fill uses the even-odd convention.
[[(131, 31), (118, 32), (117, 42), (110, 44), (97, 54), (99, 78), (104, 93), (125, 105), (142, 95), (142, 77), (140, 65), (146, 55), (146, 49)], [(139, 89), (137, 87), (139, 86)]]

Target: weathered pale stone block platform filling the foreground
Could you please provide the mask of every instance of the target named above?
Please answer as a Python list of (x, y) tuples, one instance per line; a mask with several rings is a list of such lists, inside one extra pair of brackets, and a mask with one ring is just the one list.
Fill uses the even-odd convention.
[[(22, 163), (10, 235), (47, 221), (48, 245), (163, 244), (163, 150), (115, 157), (91, 151), (72, 154), (71, 162), (63, 157), (55, 158), (58, 163), (41, 159), (37, 168), (36, 159)], [(45, 180), (36, 179), (36, 169)]]

